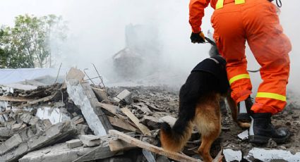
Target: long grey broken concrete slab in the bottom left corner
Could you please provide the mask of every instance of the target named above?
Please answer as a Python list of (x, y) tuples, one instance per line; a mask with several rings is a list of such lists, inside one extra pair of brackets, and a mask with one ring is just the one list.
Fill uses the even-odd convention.
[(47, 147), (61, 139), (75, 135), (76, 128), (70, 122), (52, 125), (42, 135), (33, 135), (30, 129), (23, 130), (1, 144), (0, 147), (3, 148), (0, 149), (0, 161), (16, 161), (29, 151)]

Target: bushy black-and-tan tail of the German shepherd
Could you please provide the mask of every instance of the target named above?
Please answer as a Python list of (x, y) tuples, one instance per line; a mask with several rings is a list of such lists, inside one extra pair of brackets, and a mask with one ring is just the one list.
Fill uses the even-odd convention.
[(160, 129), (162, 147), (168, 151), (181, 151), (188, 139), (190, 139), (192, 130), (192, 121), (184, 118), (176, 120), (173, 127), (166, 122), (162, 123)]

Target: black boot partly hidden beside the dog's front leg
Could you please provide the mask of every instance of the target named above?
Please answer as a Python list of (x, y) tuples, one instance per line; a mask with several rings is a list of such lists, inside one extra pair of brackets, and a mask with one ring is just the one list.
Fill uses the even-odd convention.
[(237, 105), (239, 108), (239, 114), (237, 116), (237, 121), (242, 123), (250, 123), (250, 110), (253, 105), (253, 99), (251, 96), (248, 96), (248, 98), (245, 101), (240, 101)]

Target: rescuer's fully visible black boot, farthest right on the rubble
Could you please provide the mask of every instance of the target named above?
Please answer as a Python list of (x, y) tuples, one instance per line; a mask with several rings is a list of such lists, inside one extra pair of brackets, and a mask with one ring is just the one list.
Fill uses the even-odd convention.
[(249, 128), (249, 142), (265, 144), (269, 139), (277, 143), (284, 143), (289, 139), (291, 132), (284, 127), (275, 129), (271, 123), (271, 113), (251, 114), (251, 126)]

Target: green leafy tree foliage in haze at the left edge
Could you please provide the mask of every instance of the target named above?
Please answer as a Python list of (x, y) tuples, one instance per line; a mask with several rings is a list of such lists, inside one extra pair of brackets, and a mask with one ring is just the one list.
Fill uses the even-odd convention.
[(1, 68), (44, 68), (52, 66), (50, 41), (66, 39), (66, 23), (61, 16), (18, 15), (14, 27), (2, 27)]

